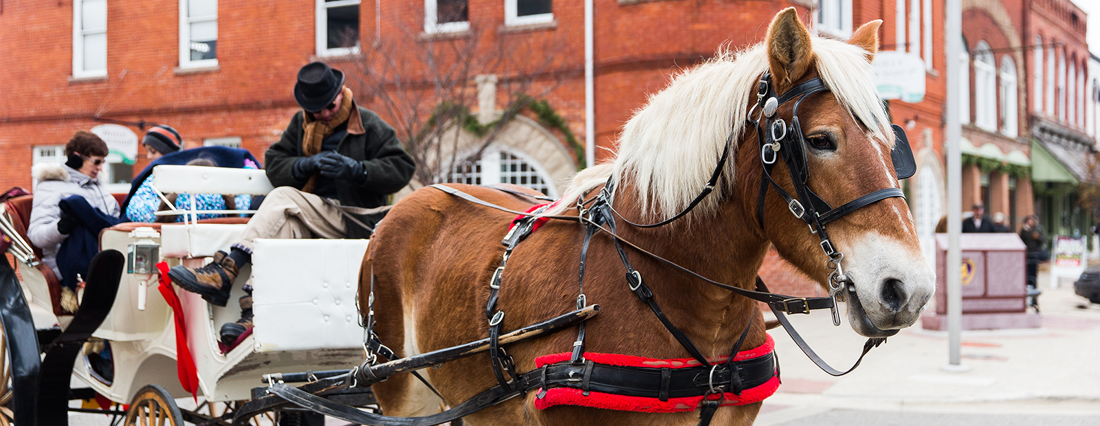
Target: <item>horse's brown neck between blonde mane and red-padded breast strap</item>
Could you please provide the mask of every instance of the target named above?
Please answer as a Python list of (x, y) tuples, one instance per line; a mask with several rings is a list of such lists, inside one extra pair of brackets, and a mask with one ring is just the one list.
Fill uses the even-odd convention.
[[(759, 177), (750, 180), (740, 175), (735, 180), (737, 187), (759, 187)], [(615, 209), (637, 223), (641, 209), (635, 189), (625, 183), (616, 192)], [(725, 191), (717, 211), (692, 212), (658, 228), (638, 228), (619, 221), (617, 233), (703, 277), (751, 290), (768, 242), (756, 225), (756, 194), (748, 197), (750, 192), (740, 188)], [(719, 194), (715, 191), (710, 197)], [(759, 315), (751, 300), (631, 251), (627, 249), (631, 264), (642, 272), (661, 309), (705, 355), (728, 354), (750, 315)], [(762, 343), (762, 323), (754, 328), (743, 350)]]

